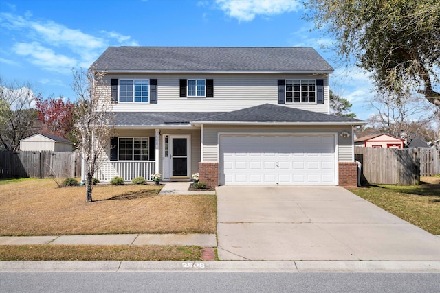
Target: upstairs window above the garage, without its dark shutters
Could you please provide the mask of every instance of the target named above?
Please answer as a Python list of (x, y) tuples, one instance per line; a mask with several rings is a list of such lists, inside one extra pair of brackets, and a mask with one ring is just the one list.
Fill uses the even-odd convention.
[(286, 103), (316, 103), (316, 81), (286, 80)]

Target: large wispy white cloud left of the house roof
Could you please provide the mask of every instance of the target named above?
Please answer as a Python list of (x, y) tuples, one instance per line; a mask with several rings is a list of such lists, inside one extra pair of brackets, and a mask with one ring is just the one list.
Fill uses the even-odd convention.
[(110, 45), (139, 45), (131, 36), (118, 32), (87, 34), (54, 21), (34, 21), (31, 17), (30, 13), (25, 17), (0, 13), (0, 26), (21, 32), (21, 41), (12, 45), (11, 50), (47, 71), (70, 74), (72, 67), (89, 67)]

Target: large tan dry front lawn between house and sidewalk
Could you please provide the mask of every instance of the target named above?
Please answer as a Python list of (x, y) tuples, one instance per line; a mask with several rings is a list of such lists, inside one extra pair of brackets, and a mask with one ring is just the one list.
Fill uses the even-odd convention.
[(0, 185), (0, 235), (215, 233), (216, 196), (159, 196), (156, 185), (58, 188), (48, 180)]

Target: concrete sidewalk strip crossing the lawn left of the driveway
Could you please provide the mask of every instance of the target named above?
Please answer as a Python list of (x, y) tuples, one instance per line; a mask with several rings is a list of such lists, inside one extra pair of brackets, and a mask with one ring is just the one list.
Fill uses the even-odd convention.
[(2, 236), (0, 245), (178, 245), (216, 247), (215, 234)]

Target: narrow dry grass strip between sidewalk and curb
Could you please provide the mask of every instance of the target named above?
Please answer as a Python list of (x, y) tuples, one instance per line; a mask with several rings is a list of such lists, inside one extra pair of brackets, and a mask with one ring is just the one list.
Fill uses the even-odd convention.
[(0, 261), (197, 261), (199, 246), (5, 245)]

